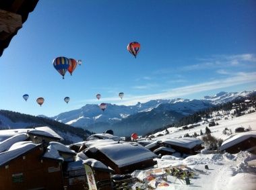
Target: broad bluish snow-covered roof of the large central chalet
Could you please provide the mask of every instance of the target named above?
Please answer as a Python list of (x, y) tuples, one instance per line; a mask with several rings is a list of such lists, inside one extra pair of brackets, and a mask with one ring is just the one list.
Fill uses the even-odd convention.
[(119, 167), (156, 158), (156, 154), (143, 146), (129, 143), (110, 144), (96, 147)]

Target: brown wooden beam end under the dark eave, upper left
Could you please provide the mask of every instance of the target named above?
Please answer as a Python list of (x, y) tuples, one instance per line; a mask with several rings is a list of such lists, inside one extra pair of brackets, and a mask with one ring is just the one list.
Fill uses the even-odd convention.
[(0, 9), (0, 40), (5, 40), (20, 28), (22, 28), (21, 15)]

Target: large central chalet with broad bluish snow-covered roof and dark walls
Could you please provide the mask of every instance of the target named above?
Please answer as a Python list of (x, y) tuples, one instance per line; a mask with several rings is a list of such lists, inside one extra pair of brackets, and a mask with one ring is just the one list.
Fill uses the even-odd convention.
[(116, 174), (131, 173), (135, 169), (152, 167), (156, 154), (137, 143), (119, 142), (93, 146), (84, 150), (89, 158), (94, 158), (111, 167)]

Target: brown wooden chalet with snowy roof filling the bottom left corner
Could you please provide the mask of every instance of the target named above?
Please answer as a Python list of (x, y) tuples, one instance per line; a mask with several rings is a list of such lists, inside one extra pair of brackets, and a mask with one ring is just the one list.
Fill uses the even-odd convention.
[(17, 142), (0, 153), (0, 189), (63, 189), (61, 160), (43, 158), (41, 144)]

